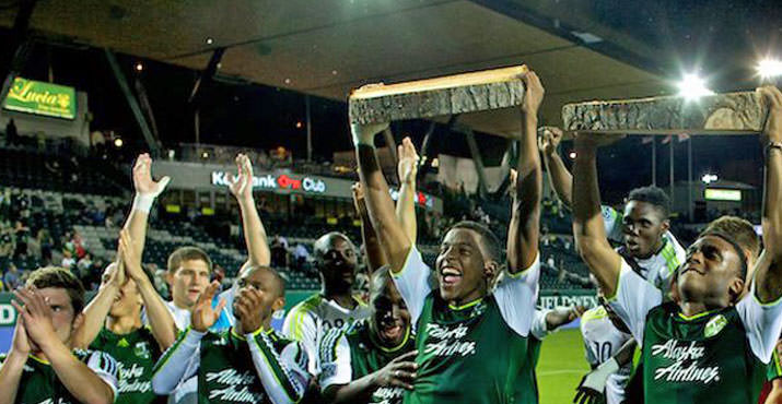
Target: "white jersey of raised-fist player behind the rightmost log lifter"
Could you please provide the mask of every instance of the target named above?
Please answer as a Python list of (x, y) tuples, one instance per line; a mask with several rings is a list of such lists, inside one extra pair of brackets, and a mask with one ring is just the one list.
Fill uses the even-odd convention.
[[(621, 243), (622, 214), (610, 206), (600, 206), (603, 222), (606, 226), (606, 236), (609, 240)], [(656, 288), (667, 293), (674, 272), (685, 262), (687, 251), (670, 231), (663, 235), (663, 248), (654, 256), (646, 259), (635, 259), (641, 276)]]

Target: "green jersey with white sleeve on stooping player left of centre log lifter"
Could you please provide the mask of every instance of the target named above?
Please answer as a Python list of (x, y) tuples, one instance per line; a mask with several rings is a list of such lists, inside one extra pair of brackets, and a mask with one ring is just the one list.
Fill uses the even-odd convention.
[[(397, 356), (416, 348), (410, 329), (399, 346), (387, 348), (372, 333), (369, 320), (353, 323), (348, 330), (331, 330), (319, 348), (320, 390), (329, 385), (348, 384), (384, 368)], [(380, 388), (372, 393), (370, 404), (400, 404), (405, 389)]]

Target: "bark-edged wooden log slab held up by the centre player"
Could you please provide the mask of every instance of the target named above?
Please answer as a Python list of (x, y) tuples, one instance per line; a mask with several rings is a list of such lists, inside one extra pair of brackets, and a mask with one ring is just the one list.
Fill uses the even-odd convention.
[(526, 66), (486, 70), (398, 84), (367, 84), (348, 98), (351, 123), (431, 118), (518, 106)]

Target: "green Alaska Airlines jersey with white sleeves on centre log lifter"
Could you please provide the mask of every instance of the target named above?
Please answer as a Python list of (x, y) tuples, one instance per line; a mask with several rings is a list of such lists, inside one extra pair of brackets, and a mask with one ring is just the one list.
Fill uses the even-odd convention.
[(431, 290), (430, 273), (413, 248), (394, 274), (417, 329), (418, 377), (405, 403), (536, 403), (529, 330), (539, 262), (462, 307)]

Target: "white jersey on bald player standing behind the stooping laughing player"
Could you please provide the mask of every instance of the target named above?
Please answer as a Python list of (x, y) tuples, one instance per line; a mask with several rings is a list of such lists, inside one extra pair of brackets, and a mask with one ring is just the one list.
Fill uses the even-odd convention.
[(347, 329), (353, 322), (370, 317), (370, 308), (358, 297), (353, 297), (355, 307), (346, 309), (336, 301), (315, 294), (294, 306), (285, 317), (282, 334), (299, 341), (310, 358), (307, 370), (317, 376), (318, 346), (324, 335), (331, 329)]

